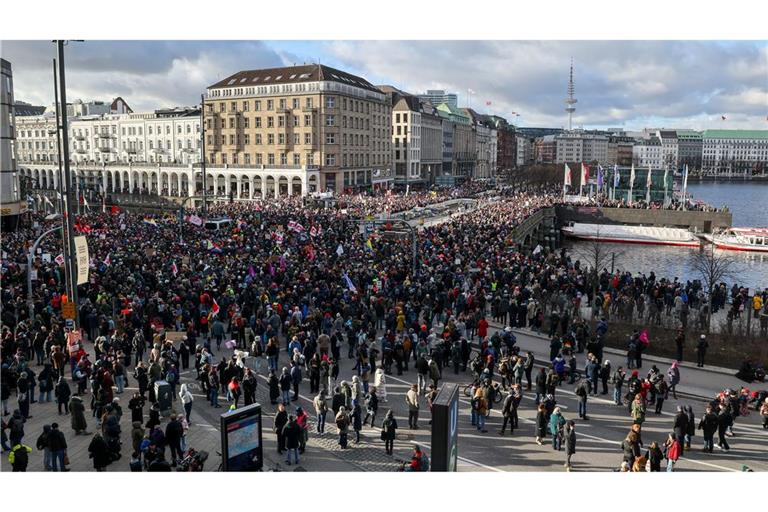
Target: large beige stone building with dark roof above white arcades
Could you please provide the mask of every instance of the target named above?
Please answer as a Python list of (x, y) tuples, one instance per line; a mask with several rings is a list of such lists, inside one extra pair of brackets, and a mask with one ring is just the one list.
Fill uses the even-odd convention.
[(240, 71), (208, 87), (206, 162), (271, 177), (319, 170), (322, 191), (388, 186), (391, 115), (379, 89), (328, 66)]

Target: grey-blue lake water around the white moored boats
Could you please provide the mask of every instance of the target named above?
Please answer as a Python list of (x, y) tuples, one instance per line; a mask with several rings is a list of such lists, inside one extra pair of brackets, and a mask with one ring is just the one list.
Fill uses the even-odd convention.
[[(768, 183), (689, 182), (688, 190), (694, 199), (718, 207), (727, 205), (733, 214), (734, 227), (768, 226)], [(584, 242), (565, 240), (565, 247), (573, 258), (584, 260), (587, 245)], [(698, 249), (634, 244), (606, 245), (615, 246), (615, 265), (620, 270), (645, 274), (653, 271), (657, 277), (677, 277), (683, 282), (688, 279), (700, 279), (691, 266)], [(737, 284), (753, 290), (768, 288), (768, 254), (727, 252), (736, 261), (734, 274)]]

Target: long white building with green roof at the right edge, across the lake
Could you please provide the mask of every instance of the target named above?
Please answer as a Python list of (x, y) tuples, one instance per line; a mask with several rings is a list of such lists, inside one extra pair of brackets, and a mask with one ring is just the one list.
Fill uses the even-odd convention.
[(702, 169), (728, 174), (757, 174), (768, 166), (768, 130), (705, 130)]

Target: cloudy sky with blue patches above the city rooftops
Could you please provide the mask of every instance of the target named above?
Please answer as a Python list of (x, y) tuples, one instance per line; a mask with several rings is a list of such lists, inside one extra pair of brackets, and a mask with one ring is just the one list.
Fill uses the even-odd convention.
[[(16, 99), (53, 102), (54, 50), (3, 41)], [(765, 41), (86, 41), (66, 51), (69, 101), (122, 96), (135, 111), (196, 104), (242, 69), (320, 61), (412, 93), (456, 92), (459, 106), (472, 89), (481, 112), (562, 127), (573, 58), (577, 126), (768, 129)]]

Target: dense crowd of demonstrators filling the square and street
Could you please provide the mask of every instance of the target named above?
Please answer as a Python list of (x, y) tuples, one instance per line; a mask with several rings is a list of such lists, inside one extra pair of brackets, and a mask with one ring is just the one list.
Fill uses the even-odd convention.
[[(78, 289), (80, 331), (67, 329), (61, 316), (69, 298), (56, 261), (60, 241), (50, 237), (41, 244), (28, 297), (24, 265), (36, 228), (3, 233), (3, 413), (10, 413), (12, 396), (18, 403), (8, 422), (3, 420), (3, 435), (7, 427), (14, 468), (23, 465), (18, 461), (31, 450), (22, 443), (23, 425), (38, 390), (41, 402), (55, 397), (77, 435), (93, 426), (86, 417), (90, 408), (99, 428), (89, 452), (94, 468), (104, 470), (120, 454), (123, 411), (115, 395), (125, 392), (129, 375), (138, 386), (127, 404), (132, 415), (130, 467), (167, 471), (189, 464), (186, 433), (194, 398), (180, 374), (192, 369), (214, 408), (220, 406), (221, 395), (233, 408), (241, 398), (244, 405), (253, 403), (257, 381), (266, 377), (270, 401), (277, 405), (278, 449), (289, 464), (299, 462), (309, 435), (308, 413), (291, 407), (307, 380), (315, 396), (315, 429), (324, 431), (326, 414), (332, 411), (342, 448), (350, 432), (359, 440), (362, 425), (370, 421), (381, 426), (385, 449), (392, 454), (397, 420), (390, 412), (377, 423), (377, 411), (379, 402), (387, 400), (386, 375), (402, 374), (409, 365), (418, 376), (406, 395), (410, 428), (421, 428), (419, 410), (434, 399), (447, 368), (474, 373), (473, 424), (481, 432), (498, 392), (493, 376), (501, 373), (504, 387), (510, 384), (502, 407), (504, 427), (509, 423), (514, 428), (523, 376), (532, 389), (533, 360), (514, 353), (509, 330), (492, 335), (491, 319), (510, 327), (549, 329), (550, 369), (543, 380), (539, 375), (535, 379), (536, 403), (543, 414), (540, 425), (537, 420), (538, 438), (555, 434), (553, 446), (559, 449), (563, 439), (572, 454), (575, 424), (565, 422), (554, 397), (557, 386), (567, 381), (566, 368), (575, 369), (573, 352), (594, 355), (586, 368), (586, 394), (596, 393), (597, 379), (603, 377), (606, 391), (613, 376), (601, 353), (608, 323), (599, 323), (596, 337), (591, 336), (580, 318), (582, 301), (594, 301), (608, 319), (616, 314), (610, 301), (621, 303), (625, 296), (666, 301), (671, 294), (676, 307), (677, 296), (686, 293), (693, 300), (696, 290), (653, 276), (604, 272), (600, 293), (593, 297), (590, 273), (565, 251), (520, 250), (516, 226), (556, 204), (557, 191), (508, 187), (493, 198), (479, 198), (472, 212), (422, 229), (415, 272), (408, 240), (361, 235), (358, 223), (350, 222), (480, 191), (473, 185), (440, 194), (347, 196), (338, 209), (308, 208), (300, 198), (216, 205), (209, 215), (226, 215), (233, 225), (210, 231), (185, 223), (183, 242), (174, 215), (119, 209), (83, 215), (77, 226), (87, 236), (91, 268), (89, 283)], [(42, 218), (35, 221), (45, 224)], [(169, 331), (183, 333), (183, 339), (170, 339)], [(638, 347), (639, 336), (630, 340)], [(474, 342), (479, 355), (471, 359)], [(255, 366), (245, 364), (239, 352), (223, 356), (222, 347), (247, 351)], [(353, 375), (339, 381), (338, 362), (344, 357), (356, 364)], [(631, 362), (628, 369), (642, 367), (640, 359)], [(171, 385), (184, 410), (171, 416), (164, 429), (154, 396), (154, 383), (161, 380)], [(654, 404), (661, 393), (649, 391), (656, 384), (652, 376), (641, 379), (635, 369), (627, 380), (631, 396), (624, 397), (616, 384), (616, 401), (628, 400), (637, 420), (637, 397), (642, 397), (644, 414), (646, 393)], [(586, 419), (586, 398), (581, 416)], [(639, 436), (639, 427), (635, 430)], [(37, 448), (46, 451), (46, 469), (65, 467), (66, 440), (60, 434), (59, 425), (52, 423), (38, 439)], [(670, 457), (675, 449), (682, 452), (684, 440), (674, 437)], [(409, 467), (423, 470), (427, 461), (417, 448)]]

